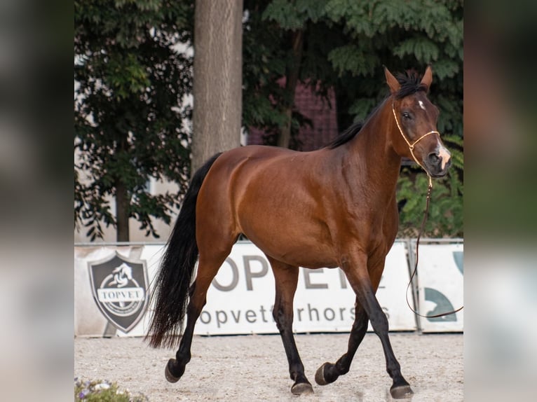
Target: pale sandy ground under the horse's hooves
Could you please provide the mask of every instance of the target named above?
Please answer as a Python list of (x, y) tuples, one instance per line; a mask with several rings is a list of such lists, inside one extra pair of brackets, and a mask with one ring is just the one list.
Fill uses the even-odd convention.
[[(175, 351), (151, 349), (141, 338), (76, 338), (74, 375), (110, 380), (151, 402), (165, 401), (393, 401), (381, 342), (367, 333), (351, 371), (329, 385), (315, 384), (315, 370), (346, 350), (348, 334), (296, 335), (313, 395), (290, 392), (279, 335), (196, 336), (192, 359), (175, 384), (164, 367)], [(463, 335), (391, 333), (402, 373), (414, 389), (403, 401), (463, 401)]]

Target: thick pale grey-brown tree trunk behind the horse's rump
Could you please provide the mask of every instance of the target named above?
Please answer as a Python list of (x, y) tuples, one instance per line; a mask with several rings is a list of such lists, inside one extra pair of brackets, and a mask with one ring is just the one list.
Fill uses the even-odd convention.
[(196, 0), (191, 174), (240, 146), (243, 0)]

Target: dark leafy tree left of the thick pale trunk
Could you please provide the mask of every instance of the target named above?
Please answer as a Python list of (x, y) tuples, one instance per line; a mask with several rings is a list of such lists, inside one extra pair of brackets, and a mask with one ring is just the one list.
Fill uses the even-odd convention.
[[(91, 240), (102, 224), (128, 241), (128, 220), (158, 237), (151, 219), (170, 222), (177, 195), (150, 195), (150, 177), (189, 177), (191, 1), (74, 2), (74, 219)], [(116, 213), (110, 205), (116, 198)]]

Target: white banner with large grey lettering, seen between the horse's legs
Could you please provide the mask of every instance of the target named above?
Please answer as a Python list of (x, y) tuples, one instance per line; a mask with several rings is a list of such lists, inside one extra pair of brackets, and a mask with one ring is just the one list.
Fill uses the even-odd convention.
[[(414, 314), (405, 303), (408, 281), (405, 244), (396, 242), (376, 293), (391, 331), (416, 329)], [(210, 286), (195, 333), (278, 333), (272, 317), (274, 294), (269, 261), (254, 244), (238, 243)], [(348, 332), (354, 303), (355, 294), (339, 268), (301, 268), (294, 296), (294, 331)]]

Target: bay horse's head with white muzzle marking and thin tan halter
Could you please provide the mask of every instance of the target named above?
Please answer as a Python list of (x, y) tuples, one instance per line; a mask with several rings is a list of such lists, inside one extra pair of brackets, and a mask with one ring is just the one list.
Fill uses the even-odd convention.
[(444, 176), (451, 165), (451, 153), (437, 132), (438, 109), (427, 99), (433, 81), (430, 67), (421, 81), (414, 72), (395, 78), (385, 67), (384, 74), (391, 91), (388, 103), (397, 126), (392, 136), (395, 152), (415, 160), (430, 176)]

